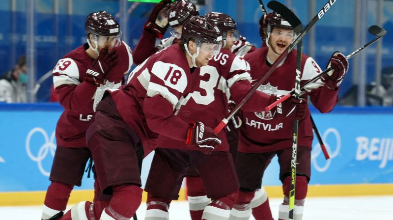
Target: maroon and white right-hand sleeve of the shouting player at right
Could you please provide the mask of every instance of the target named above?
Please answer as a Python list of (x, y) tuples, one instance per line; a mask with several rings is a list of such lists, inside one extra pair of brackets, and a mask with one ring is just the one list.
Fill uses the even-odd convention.
[[(320, 73), (322, 73), (322, 70), (319, 65), (312, 57), (308, 57), (303, 69), (301, 83), (306, 83)], [(324, 85), (325, 83), (318, 79), (305, 87), (305, 91), (309, 93), (311, 103), (322, 113), (333, 110), (338, 102), (338, 89), (331, 90)]]

